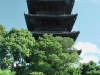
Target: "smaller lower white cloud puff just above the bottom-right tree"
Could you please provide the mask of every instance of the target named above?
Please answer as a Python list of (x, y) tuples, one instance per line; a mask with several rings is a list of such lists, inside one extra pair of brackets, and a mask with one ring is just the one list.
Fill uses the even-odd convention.
[(98, 62), (99, 59), (98, 59), (98, 57), (96, 57), (94, 55), (86, 55), (86, 56), (84, 56), (84, 58), (80, 62), (81, 63), (88, 63), (89, 61)]

